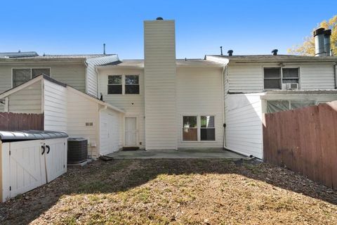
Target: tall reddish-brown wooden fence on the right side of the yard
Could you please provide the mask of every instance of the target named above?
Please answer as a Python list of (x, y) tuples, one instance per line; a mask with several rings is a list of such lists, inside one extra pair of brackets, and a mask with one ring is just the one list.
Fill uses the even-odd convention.
[(337, 189), (337, 101), (268, 113), (263, 160)]

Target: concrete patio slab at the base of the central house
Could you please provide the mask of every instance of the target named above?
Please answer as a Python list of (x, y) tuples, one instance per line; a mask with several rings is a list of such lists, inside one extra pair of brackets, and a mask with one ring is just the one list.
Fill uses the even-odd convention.
[(123, 159), (189, 159), (189, 158), (225, 158), (241, 159), (244, 155), (221, 148), (179, 149), (179, 150), (119, 150), (107, 157)]

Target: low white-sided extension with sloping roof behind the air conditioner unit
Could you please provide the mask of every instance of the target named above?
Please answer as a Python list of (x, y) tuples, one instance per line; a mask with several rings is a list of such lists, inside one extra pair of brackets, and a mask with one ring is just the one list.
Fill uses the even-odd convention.
[(93, 96), (39, 75), (0, 94), (11, 113), (44, 113), (44, 130), (88, 139), (88, 155), (98, 158), (122, 147), (120, 110)]

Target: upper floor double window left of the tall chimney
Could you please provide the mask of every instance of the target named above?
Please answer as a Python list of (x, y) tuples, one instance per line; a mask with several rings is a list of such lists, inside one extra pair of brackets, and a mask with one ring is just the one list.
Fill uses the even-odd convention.
[(139, 94), (139, 76), (108, 75), (107, 94)]

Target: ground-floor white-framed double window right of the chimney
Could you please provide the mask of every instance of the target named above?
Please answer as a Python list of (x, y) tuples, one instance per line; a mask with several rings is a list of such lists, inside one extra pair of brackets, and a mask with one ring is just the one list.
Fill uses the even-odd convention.
[(214, 116), (183, 116), (183, 141), (216, 141)]

